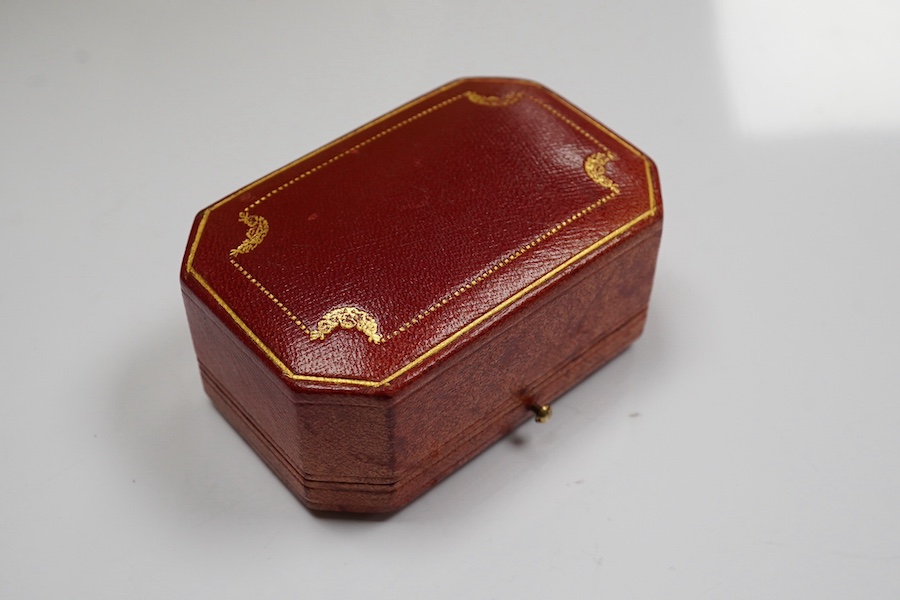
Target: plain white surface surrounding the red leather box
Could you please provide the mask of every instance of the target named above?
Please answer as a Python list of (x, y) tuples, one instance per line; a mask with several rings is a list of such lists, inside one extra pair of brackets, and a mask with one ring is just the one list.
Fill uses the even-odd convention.
[[(3, 598), (900, 597), (900, 10), (0, 4)], [(204, 206), (465, 75), (660, 167), (644, 337), (389, 518), (303, 508), (200, 387)]]

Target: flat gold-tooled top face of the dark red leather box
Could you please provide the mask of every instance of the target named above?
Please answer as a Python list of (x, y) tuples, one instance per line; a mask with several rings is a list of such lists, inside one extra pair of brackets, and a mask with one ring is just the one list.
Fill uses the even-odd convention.
[(184, 283), (295, 388), (386, 392), (661, 218), (652, 162), (529, 81), (454, 81), (202, 211)]

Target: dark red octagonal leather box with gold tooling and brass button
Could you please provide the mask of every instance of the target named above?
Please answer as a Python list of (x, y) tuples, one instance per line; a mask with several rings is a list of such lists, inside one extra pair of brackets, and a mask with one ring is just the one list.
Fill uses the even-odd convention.
[(633, 145), (454, 81), (197, 215), (203, 385), (308, 507), (396, 510), (640, 335), (661, 230)]

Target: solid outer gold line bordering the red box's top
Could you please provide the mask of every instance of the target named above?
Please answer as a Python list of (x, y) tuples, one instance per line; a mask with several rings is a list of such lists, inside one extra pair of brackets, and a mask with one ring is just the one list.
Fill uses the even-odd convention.
[(194, 269), (194, 265), (193, 265), (194, 256), (196, 255), (197, 247), (200, 243), (200, 238), (203, 235), (203, 230), (206, 227), (206, 222), (209, 219), (209, 215), (212, 213), (212, 211), (214, 211), (218, 207), (222, 206), (223, 204), (230, 202), (231, 200), (233, 200), (234, 198), (236, 198), (237, 196), (242, 194), (245, 190), (248, 190), (252, 187), (256, 187), (256, 186), (260, 185), (261, 183), (264, 183), (265, 181), (267, 181), (273, 177), (276, 177), (280, 173), (283, 173), (284, 171), (294, 167), (294, 165), (301, 163), (309, 158), (312, 158), (313, 156), (315, 156), (321, 152), (324, 152), (325, 150), (343, 142), (344, 140), (347, 140), (362, 131), (370, 129), (373, 126), (375, 126), (379, 123), (382, 123), (385, 120), (390, 119), (391, 117), (393, 117), (405, 110), (412, 108), (413, 106), (416, 106), (417, 104), (426, 102), (426, 101), (430, 100), (431, 98), (433, 98), (449, 89), (452, 89), (453, 87), (459, 86), (462, 83), (464, 83), (465, 81), (466, 80), (453, 81), (453, 82), (451, 82), (443, 87), (440, 87), (420, 98), (417, 98), (416, 100), (413, 100), (412, 102), (404, 104), (403, 106), (375, 119), (374, 121), (371, 121), (371, 122), (363, 125), (362, 127), (358, 128), (358, 129), (351, 131), (350, 133), (334, 140), (333, 142), (326, 144), (325, 146), (322, 146), (321, 148), (318, 148), (317, 150), (314, 150), (313, 152), (305, 154), (304, 156), (301, 156), (297, 160), (285, 165), (284, 167), (282, 167), (276, 171), (269, 173), (265, 177), (258, 179), (247, 186), (244, 186), (243, 188), (234, 192), (230, 196), (223, 198), (219, 202), (216, 202), (215, 204), (213, 204), (212, 206), (208, 207), (206, 210), (203, 211), (203, 216), (200, 218), (200, 224), (197, 226), (197, 233), (194, 235), (193, 242), (191, 243), (191, 249), (190, 249), (190, 252), (188, 253), (188, 259), (186, 261), (185, 268), (186, 268), (187, 272), (194, 279), (197, 280), (197, 282), (203, 287), (203, 289), (205, 289), (209, 293), (209, 295), (212, 296), (212, 298), (216, 301), (216, 303), (226, 313), (228, 313), (228, 316), (230, 316), (232, 318), (232, 320), (235, 322), (235, 324), (238, 327), (240, 327), (241, 330), (244, 331), (244, 333), (246, 333), (247, 336), (251, 340), (253, 340), (253, 342), (259, 347), (259, 349), (263, 352), (263, 354), (265, 354), (266, 357), (269, 360), (271, 360), (272, 363), (275, 364), (286, 377), (288, 377), (294, 381), (309, 381), (309, 382), (314, 382), (314, 383), (333, 383), (333, 384), (339, 384), (339, 385), (359, 385), (359, 386), (364, 386), (364, 387), (385, 386), (385, 385), (389, 384), (391, 381), (393, 381), (394, 379), (396, 379), (397, 377), (400, 377), (401, 375), (403, 375), (404, 373), (409, 371), (410, 369), (413, 369), (416, 366), (420, 365), (422, 362), (424, 362), (431, 356), (434, 356), (435, 354), (437, 354), (438, 352), (440, 352), (441, 350), (443, 350), (444, 348), (446, 348), (447, 346), (452, 344), (454, 341), (459, 339), (460, 336), (465, 335), (467, 332), (471, 331), (473, 328), (477, 327), (481, 323), (490, 319), (492, 316), (496, 315), (497, 313), (499, 313), (503, 309), (507, 308), (508, 306), (510, 306), (511, 304), (516, 302), (517, 300), (521, 299), (523, 296), (525, 296), (529, 292), (541, 287), (542, 285), (547, 283), (549, 280), (553, 279), (553, 277), (555, 277), (561, 271), (563, 271), (566, 268), (570, 267), (571, 265), (575, 264), (576, 262), (578, 262), (579, 260), (581, 260), (582, 258), (587, 256), (588, 254), (594, 252), (601, 246), (605, 245), (607, 242), (617, 238), (618, 236), (622, 235), (623, 233), (626, 233), (627, 231), (629, 231), (630, 229), (632, 229), (639, 223), (646, 221), (647, 219), (656, 215), (658, 207), (657, 207), (657, 201), (656, 201), (656, 193), (654, 191), (654, 185), (653, 185), (653, 171), (652, 171), (651, 163), (650, 163), (650, 160), (643, 153), (641, 153), (637, 148), (635, 148), (634, 146), (632, 146), (631, 144), (629, 144), (628, 142), (623, 140), (621, 137), (616, 135), (614, 132), (607, 129), (605, 126), (603, 126), (601, 123), (597, 122), (591, 116), (585, 114), (583, 111), (581, 111), (577, 107), (573, 106), (568, 101), (564, 100), (563, 98), (557, 96), (555, 93), (551, 92), (550, 90), (547, 90), (543, 86), (541, 86), (533, 81), (515, 80), (515, 79), (500, 79), (500, 80), (481, 79), (479, 81), (483, 81), (483, 82), (496, 81), (499, 83), (518, 83), (520, 85), (528, 85), (531, 87), (538, 88), (538, 89), (544, 91), (545, 93), (549, 94), (550, 96), (552, 96), (560, 104), (565, 105), (567, 108), (569, 108), (575, 114), (581, 116), (582, 118), (587, 120), (589, 123), (593, 124), (595, 127), (600, 129), (601, 131), (603, 131), (606, 135), (610, 136), (611, 138), (616, 140), (619, 144), (621, 144), (622, 146), (627, 148), (629, 151), (631, 151), (635, 156), (637, 156), (641, 160), (643, 160), (644, 161), (644, 170), (647, 175), (647, 192), (648, 192), (649, 208), (645, 212), (641, 213), (640, 215), (638, 215), (637, 217), (635, 217), (634, 219), (629, 221), (628, 223), (626, 223), (626, 224), (622, 225), (621, 227), (619, 227), (618, 229), (616, 229), (615, 231), (603, 236), (601, 239), (597, 240), (590, 246), (588, 246), (588, 247), (584, 248), (583, 250), (581, 250), (580, 252), (572, 255), (565, 262), (557, 265), (556, 267), (554, 267), (553, 269), (551, 269), (550, 271), (548, 271), (541, 277), (532, 281), (530, 284), (528, 284), (527, 286), (525, 286), (524, 288), (522, 288), (521, 290), (519, 290), (512, 296), (508, 297), (506, 300), (500, 302), (499, 304), (497, 304), (496, 306), (494, 306), (487, 312), (483, 313), (481, 316), (477, 317), (473, 321), (469, 322), (468, 324), (464, 325), (460, 329), (456, 330), (454, 333), (450, 334), (448, 337), (444, 338), (442, 341), (438, 342), (437, 344), (435, 344), (434, 346), (432, 346), (431, 348), (429, 348), (428, 350), (426, 350), (425, 352), (423, 352), (422, 354), (420, 354), (419, 356), (414, 358), (412, 361), (406, 363), (405, 365), (403, 365), (402, 367), (400, 367), (399, 369), (397, 369), (396, 371), (394, 371), (393, 373), (391, 373), (384, 379), (381, 379), (380, 381), (373, 381), (373, 380), (369, 380), (369, 379), (349, 379), (349, 378), (340, 378), (340, 377), (318, 377), (315, 375), (298, 375), (298, 374), (294, 373), (293, 371), (291, 371), (290, 368), (288, 368), (288, 366), (286, 364), (284, 364), (284, 362), (281, 359), (279, 359), (275, 355), (275, 353), (272, 352), (272, 350), (253, 332), (253, 330), (251, 330), (250, 327), (248, 327), (247, 324), (244, 323), (244, 321), (234, 312), (234, 310), (232, 310), (232, 308), (222, 299), (222, 297), (216, 293), (216, 291), (212, 288), (212, 286), (209, 285), (209, 282), (207, 282), (203, 278), (203, 276), (200, 275), (200, 273), (198, 273)]

